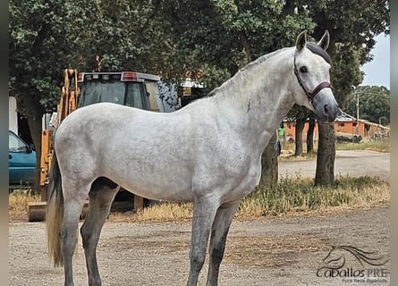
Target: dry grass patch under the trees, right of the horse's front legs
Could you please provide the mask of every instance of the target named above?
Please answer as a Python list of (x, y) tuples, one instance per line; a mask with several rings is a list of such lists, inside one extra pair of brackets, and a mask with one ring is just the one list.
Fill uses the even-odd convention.
[(339, 177), (327, 188), (311, 179), (286, 177), (275, 189), (260, 189), (241, 201), (238, 216), (258, 217), (339, 207), (371, 207), (390, 201), (388, 182), (368, 176)]

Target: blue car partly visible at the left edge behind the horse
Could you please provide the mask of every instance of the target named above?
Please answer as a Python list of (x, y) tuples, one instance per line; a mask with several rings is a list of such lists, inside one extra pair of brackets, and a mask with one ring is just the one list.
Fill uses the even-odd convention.
[(8, 176), (10, 187), (31, 185), (36, 177), (36, 152), (11, 130), (8, 130)]

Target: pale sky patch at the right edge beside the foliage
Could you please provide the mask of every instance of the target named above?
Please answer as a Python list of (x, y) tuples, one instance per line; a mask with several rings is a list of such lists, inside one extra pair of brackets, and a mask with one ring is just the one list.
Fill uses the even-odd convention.
[(374, 55), (373, 60), (360, 68), (365, 72), (361, 85), (384, 86), (390, 89), (390, 36), (380, 34), (375, 40), (376, 45), (370, 51)]

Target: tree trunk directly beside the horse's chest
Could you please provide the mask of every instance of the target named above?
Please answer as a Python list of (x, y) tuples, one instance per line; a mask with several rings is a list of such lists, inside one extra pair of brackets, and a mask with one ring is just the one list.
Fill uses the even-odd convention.
[(276, 132), (261, 156), (261, 178), (258, 189), (273, 188), (278, 182), (278, 155), (275, 142)]

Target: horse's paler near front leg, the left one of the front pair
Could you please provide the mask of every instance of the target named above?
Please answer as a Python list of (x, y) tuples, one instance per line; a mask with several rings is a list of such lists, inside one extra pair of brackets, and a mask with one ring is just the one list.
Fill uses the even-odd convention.
[(205, 263), (207, 240), (218, 208), (215, 198), (198, 198), (193, 202), (190, 276), (187, 286), (196, 286), (200, 270)]

